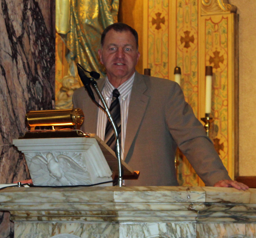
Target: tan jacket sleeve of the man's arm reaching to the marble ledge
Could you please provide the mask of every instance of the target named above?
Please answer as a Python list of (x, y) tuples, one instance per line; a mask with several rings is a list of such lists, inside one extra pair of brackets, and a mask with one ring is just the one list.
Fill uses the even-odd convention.
[(179, 149), (206, 186), (230, 179), (211, 140), (175, 83), (166, 103), (166, 123)]

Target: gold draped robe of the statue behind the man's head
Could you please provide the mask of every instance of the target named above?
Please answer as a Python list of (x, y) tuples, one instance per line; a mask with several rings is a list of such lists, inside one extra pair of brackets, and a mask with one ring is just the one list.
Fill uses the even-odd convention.
[(70, 73), (76, 76), (75, 63), (104, 75), (98, 49), (102, 31), (117, 22), (119, 0), (70, 0), (70, 31), (61, 35), (69, 50), (66, 58)]

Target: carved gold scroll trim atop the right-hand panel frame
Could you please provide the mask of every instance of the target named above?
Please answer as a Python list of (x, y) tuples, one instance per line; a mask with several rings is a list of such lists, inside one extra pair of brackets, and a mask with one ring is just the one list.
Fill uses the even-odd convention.
[(237, 13), (237, 7), (229, 0), (201, 0), (201, 16), (219, 13)]

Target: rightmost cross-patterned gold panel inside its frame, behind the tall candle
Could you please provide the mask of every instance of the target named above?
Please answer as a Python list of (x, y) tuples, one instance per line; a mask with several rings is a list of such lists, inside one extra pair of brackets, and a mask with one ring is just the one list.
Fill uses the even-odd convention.
[[(212, 90), (214, 112), (214, 127), (211, 127), (211, 138), (214, 140), (218, 154), (227, 166), (228, 164), (228, 56), (227, 56), (227, 17), (222, 17), (215, 21), (214, 17), (205, 19), (206, 31), (206, 58), (205, 64), (212, 65), (214, 78), (214, 88)], [(218, 135), (218, 136), (217, 136)], [(219, 137), (219, 138), (218, 138)]]

